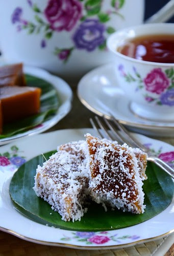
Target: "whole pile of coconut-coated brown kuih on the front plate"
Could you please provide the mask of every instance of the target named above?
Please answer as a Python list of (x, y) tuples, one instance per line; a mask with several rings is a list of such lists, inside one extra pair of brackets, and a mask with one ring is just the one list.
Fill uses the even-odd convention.
[(36, 195), (51, 204), (64, 221), (81, 220), (89, 195), (105, 209), (107, 204), (142, 213), (145, 206), (141, 178), (146, 179), (146, 154), (139, 148), (120, 146), (90, 134), (86, 141), (61, 145), (43, 166), (38, 165)]

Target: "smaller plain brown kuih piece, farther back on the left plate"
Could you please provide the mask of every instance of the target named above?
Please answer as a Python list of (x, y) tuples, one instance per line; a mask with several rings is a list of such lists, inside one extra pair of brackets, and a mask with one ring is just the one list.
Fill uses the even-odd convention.
[(26, 86), (22, 63), (0, 67), (0, 87)]

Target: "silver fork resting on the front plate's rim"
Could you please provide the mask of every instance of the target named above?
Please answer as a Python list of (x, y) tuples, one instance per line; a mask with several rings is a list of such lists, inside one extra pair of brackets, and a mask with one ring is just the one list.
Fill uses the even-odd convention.
[[(95, 120), (90, 118), (91, 125), (93, 129), (102, 137), (110, 140), (117, 140), (119, 144), (127, 143), (131, 147), (138, 147), (143, 152), (147, 153), (147, 161), (153, 162), (159, 167), (161, 167), (167, 174), (169, 174), (174, 179), (174, 169), (172, 169), (167, 163), (162, 161), (160, 158), (156, 157), (151, 150), (142, 145), (128, 130), (120, 124), (113, 116), (111, 120), (103, 118), (98, 118), (95, 116)], [(118, 130), (119, 132), (118, 132)]]

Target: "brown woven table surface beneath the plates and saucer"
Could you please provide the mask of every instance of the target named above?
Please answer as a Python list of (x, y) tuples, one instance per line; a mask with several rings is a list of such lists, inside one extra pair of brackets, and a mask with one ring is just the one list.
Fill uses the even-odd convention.
[[(87, 110), (79, 101), (76, 94), (77, 87), (72, 87), (73, 101), (72, 109), (69, 114), (64, 117), (59, 123), (46, 132), (51, 132), (60, 129), (73, 129), (91, 127), (89, 122), (90, 117), (94, 117), (94, 114)], [(174, 145), (174, 138), (157, 138), (167, 143)], [(53, 247), (33, 244), (27, 241), (20, 240), (11, 234), (0, 231), (0, 256), (4, 255), (117, 255), (117, 256), (136, 256), (144, 255), (149, 256), (154, 254), (155, 250), (164, 242), (164, 239), (158, 241), (152, 241), (145, 244), (137, 245), (134, 247), (128, 247), (117, 250), (75, 250), (70, 248)], [(174, 255), (174, 245), (170, 247), (165, 256)]]

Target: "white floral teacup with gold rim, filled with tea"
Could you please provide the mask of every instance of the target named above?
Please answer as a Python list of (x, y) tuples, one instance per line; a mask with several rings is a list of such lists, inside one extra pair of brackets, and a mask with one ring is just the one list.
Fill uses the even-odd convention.
[(146, 119), (174, 120), (174, 63), (159, 63), (123, 55), (118, 47), (144, 35), (174, 34), (174, 24), (146, 24), (112, 34), (107, 46), (115, 56), (119, 86), (130, 100), (130, 110)]

